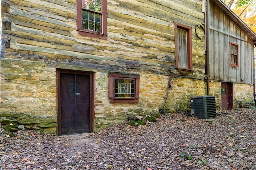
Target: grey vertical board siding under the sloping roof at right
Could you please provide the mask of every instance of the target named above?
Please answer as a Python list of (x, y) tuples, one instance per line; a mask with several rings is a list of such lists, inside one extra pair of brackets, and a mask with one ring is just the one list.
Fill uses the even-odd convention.
[[(220, 81), (254, 84), (253, 41), (210, 3), (210, 78)], [(238, 65), (229, 65), (230, 42), (238, 44)], [(244, 81), (241, 81), (244, 79)]]

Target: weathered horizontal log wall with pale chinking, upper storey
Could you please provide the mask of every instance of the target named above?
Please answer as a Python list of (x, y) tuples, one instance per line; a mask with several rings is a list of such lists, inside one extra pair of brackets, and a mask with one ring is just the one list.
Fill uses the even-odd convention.
[[(78, 35), (76, 0), (2, 0), (2, 57), (116, 72), (205, 75), (201, 0), (109, 0), (108, 39)], [(194, 73), (175, 70), (174, 24), (192, 27)], [(189, 74), (189, 75), (188, 75)]]

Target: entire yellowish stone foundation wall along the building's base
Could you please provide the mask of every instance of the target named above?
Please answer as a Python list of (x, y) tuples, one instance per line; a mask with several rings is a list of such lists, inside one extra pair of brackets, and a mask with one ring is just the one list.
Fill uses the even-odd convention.
[[(204, 80), (171, 78), (141, 71), (139, 102), (110, 103), (108, 72), (96, 70), (94, 77), (94, 131), (124, 122), (129, 115), (159, 114), (159, 109), (167, 113), (175, 112), (176, 108), (189, 110), (190, 97), (207, 94)], [(216, 97), (217, 109), (221, 108), (220, 85), (214, 81), (209, 84), (210, 95)], [(236, 100), (252, 102), (252, 93), (253, 86), (234, 83), (234, 107)], [(56, 68), (37, 61), (1, 59), (1, 123), (24, 125), (55, 134)]]

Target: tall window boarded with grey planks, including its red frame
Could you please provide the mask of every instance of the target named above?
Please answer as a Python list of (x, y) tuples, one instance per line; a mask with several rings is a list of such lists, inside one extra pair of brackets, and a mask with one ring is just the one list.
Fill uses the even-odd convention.
[(174, 22), (176, 69), (192, 71), (192, 28)]

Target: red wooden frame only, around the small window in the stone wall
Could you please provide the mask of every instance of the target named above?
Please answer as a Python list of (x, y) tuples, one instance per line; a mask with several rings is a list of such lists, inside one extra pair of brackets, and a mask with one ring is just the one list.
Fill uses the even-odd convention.
[[(133, 76), (133, 75), (122, 75), (122, 74), (116, 74), (116, 73), (109, 73), (109, 90), (108, 90), (108, 98), (110, 99), (110, 103), (137, 103), (139, 100), (139, 79), (140, 76)], [(114, 98), (114, 78), (132, 78), (135, 79), (135, 94), (134, 99), (133, 98), (121, 98), (116, 99)]]

